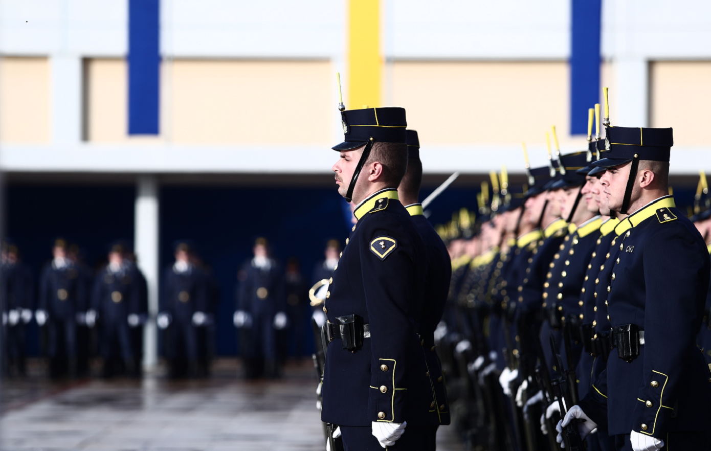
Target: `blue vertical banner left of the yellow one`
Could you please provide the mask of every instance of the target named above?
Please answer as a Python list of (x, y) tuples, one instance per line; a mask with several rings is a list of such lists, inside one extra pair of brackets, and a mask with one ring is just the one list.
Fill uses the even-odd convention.
[(129, 135), (159, 133), (159, 2), (129, 0)]

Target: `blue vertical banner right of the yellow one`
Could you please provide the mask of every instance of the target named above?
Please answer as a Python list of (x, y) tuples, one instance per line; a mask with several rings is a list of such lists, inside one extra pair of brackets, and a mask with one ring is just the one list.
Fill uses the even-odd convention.
[(602, 0), (571, 0), (570, 134), (587, 134), (587, 109), (600, 96)]

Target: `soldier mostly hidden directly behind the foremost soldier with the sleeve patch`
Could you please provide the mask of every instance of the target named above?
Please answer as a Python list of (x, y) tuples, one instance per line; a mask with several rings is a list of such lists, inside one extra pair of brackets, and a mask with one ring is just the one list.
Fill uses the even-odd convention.
[(427, 246), (427, 276), (424, 285), (424, 305), (422, 319), (419, 322), (419, 335), (424, 340), (422, 351), (427, 362), (429, 381), (432, 384), (432, 403), (430, 404), (430, 424), (432, 430), (428, 449), (434, 450), (435, 436), (439, 425), (448, 425), (449, 402), (442, 363), (439, 362), (434, 344), (434, 330), (444, 314), (451, 278), (451, 261), (447, 246), (434, 231), (432, 224), (424, 217), (422, 204), (419, 203), (419, 187), (422, 183), (422, 161), (419, 160), (419, 138), (417, 131), (407, 130), (407, 172), (397, 188), (400, 203), (410, 213), (415, 228)]

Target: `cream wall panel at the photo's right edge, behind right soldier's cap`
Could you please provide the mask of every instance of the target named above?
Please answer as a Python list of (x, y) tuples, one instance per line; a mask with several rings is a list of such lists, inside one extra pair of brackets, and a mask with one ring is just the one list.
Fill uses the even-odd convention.
[(710, 145), (711, 61), (664, 61), (650, 67), (650, 123), (673, 127), (675, 145)]

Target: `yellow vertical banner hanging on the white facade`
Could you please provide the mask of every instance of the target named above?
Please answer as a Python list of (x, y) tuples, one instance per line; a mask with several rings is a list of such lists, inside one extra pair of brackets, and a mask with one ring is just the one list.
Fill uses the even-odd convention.
[(380, 1), (348, 2), (348, 109), (380, 107)]

